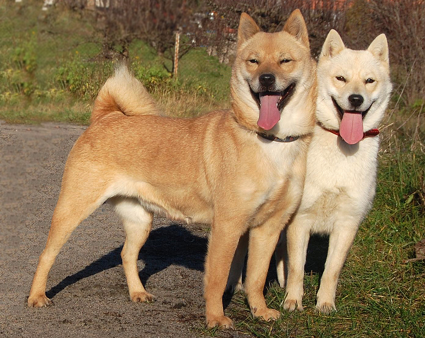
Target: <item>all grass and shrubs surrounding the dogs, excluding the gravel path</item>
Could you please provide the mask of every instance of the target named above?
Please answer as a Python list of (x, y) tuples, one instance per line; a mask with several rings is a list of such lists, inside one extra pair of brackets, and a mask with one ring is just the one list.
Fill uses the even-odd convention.
[[(263, 323), (251, 317), (241, 294), (233, 297), (226, 311), (232, 312), (240, 332), (257, 337), (423, 337), (424, 261), (404, 260), (415, 257), (414, 244), (425, 238), (425, 2), (123, 3), (136, 7), (111, 14), (88, 11), (82, 0), (64, 0), (42, 12), (39, 1), (0, 2), (0, 119), (87, 124), (97, 91), (121, 57), (128, 58), (164, 114), (189, 117), (227, 108), (235, 42), (229, 28), (237, 28), (241, 11), (251, 14), (263, 30), (275, 31), (293, 9), (300, 8), (313, 56), (330, 28), (354, 49), (367, 47), (382, 32), (387, 35), (394, 92), (380, 128), (377, 197), (341, 274), (338, 312), (314, 312), (320, 271), (305, 277), (303, 313), (281, 309), (282, 319)], [(150, 7), (144, 8), (154, 9), (142, 27), (128, 9), (147, 3)], [(121, 25), (112, 24), (114, 15), (122, 19)], [(182, 31), (183, 46), (178, 78), (170, 73), (176, 29)], [(159, 45), (159, 40), (164, 43)], [(272, 282), (267, 290), (271, 306), (280, 308), (283, 297)], [(218, 330), (194, 329), (222, 335)]]

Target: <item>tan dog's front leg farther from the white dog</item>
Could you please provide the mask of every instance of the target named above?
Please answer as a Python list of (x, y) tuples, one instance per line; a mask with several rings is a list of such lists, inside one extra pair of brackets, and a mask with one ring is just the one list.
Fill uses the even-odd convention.
[(205, 319), (208, 327), (233, 327), (232, 320), (224, 315), (222, 299), (230, 264), (239, 238), (244, 233), (235, 223), (238, 222), (226, 220), (212, 224), (204, 277)]

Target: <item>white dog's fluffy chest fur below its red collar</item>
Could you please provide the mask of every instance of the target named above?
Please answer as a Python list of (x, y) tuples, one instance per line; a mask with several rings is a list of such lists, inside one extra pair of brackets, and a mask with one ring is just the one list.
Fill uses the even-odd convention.
[(374, 198), (378, 147), (377, 137), (348, 145), (316, 127), (299, 210), (314, 219), (312, 232), (330, 233), (348, 217), (360, 224)]

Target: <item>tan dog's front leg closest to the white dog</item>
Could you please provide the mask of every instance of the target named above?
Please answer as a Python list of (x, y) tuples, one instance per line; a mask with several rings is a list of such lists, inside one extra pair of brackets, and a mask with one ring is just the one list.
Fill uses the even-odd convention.
[(263, 295), (270, 258), (275, 250), (281, 230), (280, 222), (269, 221), (249, 232), (248, 262), (244, 290), (249, 307), (255, 317), (277, 319), (280, 312), (269, 309)]

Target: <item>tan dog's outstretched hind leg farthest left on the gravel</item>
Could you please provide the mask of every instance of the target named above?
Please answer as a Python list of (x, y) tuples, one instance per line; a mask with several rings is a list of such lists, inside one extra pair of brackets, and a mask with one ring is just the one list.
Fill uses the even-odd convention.
[[(59, 199), (53, 212), (45, 249), (40, 255), (37, 270), (28, 296), (28, 307), (45, 307), (53, 302), (45, 294), (47, 276), (62, 245), (72, 231), (88, 217), (106, 198), (100, 182), (76, 185), (65, 176)], [(98, 183), (96, 185), (96, 183)], [(78, 186), (78, 187), (77, 187)]]

